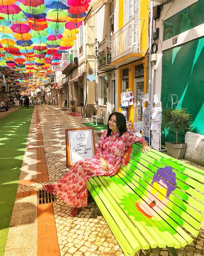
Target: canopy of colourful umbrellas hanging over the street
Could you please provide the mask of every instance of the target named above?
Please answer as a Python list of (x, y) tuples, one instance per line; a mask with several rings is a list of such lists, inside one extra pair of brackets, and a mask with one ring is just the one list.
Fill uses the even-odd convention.
[(91, 0), (1, 0), (0, 72), (22, 94), (46, 83), (74, 45)]

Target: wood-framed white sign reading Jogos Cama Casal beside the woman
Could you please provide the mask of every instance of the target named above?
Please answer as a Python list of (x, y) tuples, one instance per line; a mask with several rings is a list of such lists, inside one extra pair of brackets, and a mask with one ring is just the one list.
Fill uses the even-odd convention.
[(93, 127), (65, 129), (66, 163), (73, 166), (79, 160), (90, 159), (95, 155)]

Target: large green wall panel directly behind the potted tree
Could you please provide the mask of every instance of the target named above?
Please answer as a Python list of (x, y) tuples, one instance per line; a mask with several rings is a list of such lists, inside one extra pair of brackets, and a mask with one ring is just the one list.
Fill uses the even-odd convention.
[[(204, 37), (163, 51), (161, 102), (163, 107), (186, 108), (192, 132), (204, 134)], [(184, 141), (184, 134), (179, 140)], [(175, 141), (175, 134), (163, 130), (164, 141)]]

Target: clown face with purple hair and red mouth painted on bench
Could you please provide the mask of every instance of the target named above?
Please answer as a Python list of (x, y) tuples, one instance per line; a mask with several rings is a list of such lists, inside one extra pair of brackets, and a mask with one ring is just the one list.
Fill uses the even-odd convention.
[(170, 192), (176, 189), (176, 174), (166, 166), (158, 169), (157, 174), (153, 176), (151, 186), (148, 186), (148, 195), (142, 203), (136, 202), (135, 206), (138, 211), (148, 218), (152, 218), (167, 204)]

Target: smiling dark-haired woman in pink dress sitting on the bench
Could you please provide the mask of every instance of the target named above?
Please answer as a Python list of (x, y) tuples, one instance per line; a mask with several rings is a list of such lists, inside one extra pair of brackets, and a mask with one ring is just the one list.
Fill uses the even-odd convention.
[(127, 131), (126, 120), (119, 112), (108, 118), (108, 129), (104, 131), (91, 159), (79, 160), (65, 176), (53, 185), (44, 185), (49, 193), (58, 194), (62, 200), (73, 207), (70, 215), (76, 216), (82, 207), (87, 206), (87, 181), (93, 176), (112, 176), (120, 169), (124, 151), (135, 142), (142, 144), (142, 151), (148, 152), (147, 141)]

